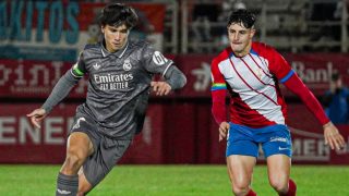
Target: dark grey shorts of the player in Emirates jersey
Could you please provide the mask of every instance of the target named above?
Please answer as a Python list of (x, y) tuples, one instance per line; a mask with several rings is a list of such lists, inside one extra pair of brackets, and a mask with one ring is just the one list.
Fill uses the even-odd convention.
[(75, 117), (70, 133), (82, 132), (88, 135), (94, 152), (87, 157), (83, 171), (87, 181), (96, 186), (111, 171), (131, 144), (131, 139), (113, 139), (98, 132), (91, 119)]

